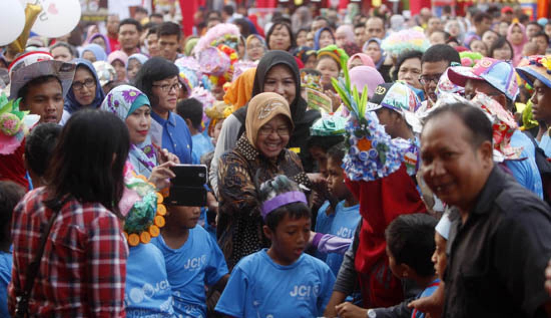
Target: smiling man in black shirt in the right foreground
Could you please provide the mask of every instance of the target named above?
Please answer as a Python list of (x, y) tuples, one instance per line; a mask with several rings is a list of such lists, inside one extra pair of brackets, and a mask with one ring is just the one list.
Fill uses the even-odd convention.
[(435, 109), (420, 139), (423, 178), (450, 216), (442, 317), (544, 317), (551, 255), (549, 206), (494, 165), (486, 115)]

